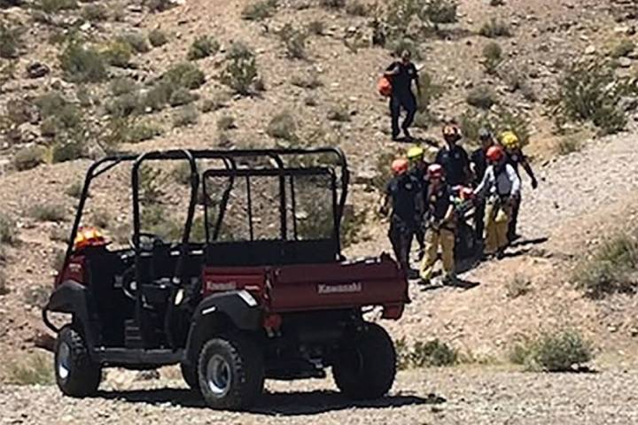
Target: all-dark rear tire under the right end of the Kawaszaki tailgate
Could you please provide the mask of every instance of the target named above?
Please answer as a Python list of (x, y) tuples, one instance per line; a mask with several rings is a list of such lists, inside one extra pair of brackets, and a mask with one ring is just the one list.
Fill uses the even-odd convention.
[(337, 387), (347, 398), (370, 400), (387, 394), (396, 375), (394, 344), (384, 328), (375, 323), (342, 345), (332, 365)]

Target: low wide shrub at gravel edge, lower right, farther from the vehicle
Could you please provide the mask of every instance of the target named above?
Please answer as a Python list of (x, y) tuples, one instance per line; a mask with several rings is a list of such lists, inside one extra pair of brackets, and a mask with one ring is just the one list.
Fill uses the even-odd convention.
[(529, 370), (569, 372), (593, 359), (592, 346), (580, 332), (566, 329), (516, 344), (510, 361)]

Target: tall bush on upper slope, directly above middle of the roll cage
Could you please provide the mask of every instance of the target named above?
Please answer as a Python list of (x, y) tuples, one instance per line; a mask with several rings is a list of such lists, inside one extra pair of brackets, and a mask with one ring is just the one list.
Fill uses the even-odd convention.
[(222, 82), (240, 95), (249, 95), (257, 79), (257, 59), (253, 50), (242, 43), (233, 43), (227, 54), (227, 64), (222, 73)]

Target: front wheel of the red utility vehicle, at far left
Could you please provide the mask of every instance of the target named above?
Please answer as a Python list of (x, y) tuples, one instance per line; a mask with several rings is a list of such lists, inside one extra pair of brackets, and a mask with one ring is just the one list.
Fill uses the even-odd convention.
[(70, 325), (58, 333), (55, 344), (55, 376), (58, 387), (71, 397), (87, 397), (97, 392), (102, 367), (91, 361), (80, 332)]

